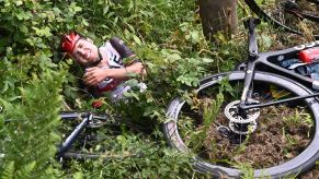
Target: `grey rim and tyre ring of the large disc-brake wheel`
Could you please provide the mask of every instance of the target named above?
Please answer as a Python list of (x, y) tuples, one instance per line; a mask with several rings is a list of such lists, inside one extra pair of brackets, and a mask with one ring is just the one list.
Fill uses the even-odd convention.
[[(205, 77), (201, 81), (201, 86), (196, 90), (196, 92), (200, 94), (209, 87), (216, 86), (224, 79), (227, 79), (228, 82), (241, 82), (244, 79), (244, 72), (233, 71)], [(266, 72), (257, 72), (253, 82), (275, 84), (292, 91), (297, 96), (311, 93), (311, 91), (307, 87), (289, 79)], [(181, 129), (179, 128), (179, 122), (181, 120), (180, 116), (182, 114), (181, 111), (184, 106), (187, 106), (186, 104), (187, 103), (182, 98), (173, 99), (167, 109), (168, 121), (163, 123), (163, 133), (169, 145), (182, 153), (189, 153), (192, 151), (192, 148), (185, 144), (184, 138), (181, 134)], [(286, 160), (283, 164), (266, 168), (253, 169), (253, 177), (259, 178), (267, 176), (271, 178), (282, 178), (284, 176), (298, 175), (308, 170), (316, 164), (316, 160), (318, 160), (319, 157), (319, 104), (315, 98), (305, 99), (305, 104), (314, 117), (314, 133), (310, 144), (296, 157)], [(240, 178), (243, 175), (240, 169), (229, 166), (216, 165), (214, 163), (207, 162), (207, 159), (203, 159), (198, 155), (193, 158), (193, 166), (200, 172), (209, 174), (214, 177), (226, 176), (230, 178)]]

